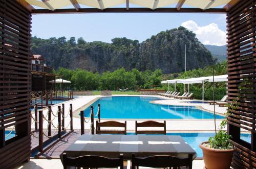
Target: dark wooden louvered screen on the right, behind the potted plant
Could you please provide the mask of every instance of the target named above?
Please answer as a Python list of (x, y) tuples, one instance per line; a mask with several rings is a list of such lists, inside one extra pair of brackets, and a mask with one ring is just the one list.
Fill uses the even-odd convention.
[[(240, 1), (227, 14), (228, 31), (228, 102), (237, 101), (228, 118), (228, 132), (236, 146), (232, 166), (256, 167), (256, 53), (255, 0)], [(251, 140), (240, 139), (241, 131)]]

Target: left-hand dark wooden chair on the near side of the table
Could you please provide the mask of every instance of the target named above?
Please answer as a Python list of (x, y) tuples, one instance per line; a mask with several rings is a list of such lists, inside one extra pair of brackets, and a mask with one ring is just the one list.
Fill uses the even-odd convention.
[(112, 168), (120, 166), (120, 169), (123, 169), (123, 155), (121, 154), (119, 158), (106, 158), (94, 155), (67, 157), (67, 154), (63, 153), (63, 168), (67, 169), (68, 166), (77, 168)]

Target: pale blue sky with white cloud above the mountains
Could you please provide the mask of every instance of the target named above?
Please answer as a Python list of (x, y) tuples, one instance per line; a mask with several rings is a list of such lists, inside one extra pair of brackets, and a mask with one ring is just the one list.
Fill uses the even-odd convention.
[(203, 44), (226, 44), (226, 14), (95, 13), (32, 15), (32, 36), (82, 37), (87, 42), (111, 42), (115, 37), (139, 42), (161, 31), (184, 26)]

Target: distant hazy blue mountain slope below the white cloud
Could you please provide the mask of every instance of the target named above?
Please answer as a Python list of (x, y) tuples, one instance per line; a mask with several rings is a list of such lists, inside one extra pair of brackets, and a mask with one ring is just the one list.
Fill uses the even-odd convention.
[(227, 60), (227, 46), (204, 45), (210, 51), (212, 57), (217, 58), (218, 62)]

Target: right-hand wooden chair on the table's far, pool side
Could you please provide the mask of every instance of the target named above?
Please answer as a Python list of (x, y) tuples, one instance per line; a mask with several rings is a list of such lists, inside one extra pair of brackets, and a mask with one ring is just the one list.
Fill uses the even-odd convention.
[[(138, 130), (139, 127), (163, 127), (163, 130)], [(135, 134), (166, 134), (166, 122), (159, 123), (155, 121), (146, 121), (135, 124)]]

